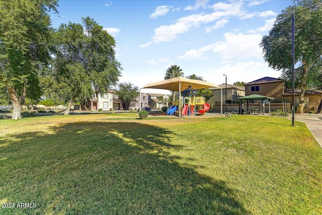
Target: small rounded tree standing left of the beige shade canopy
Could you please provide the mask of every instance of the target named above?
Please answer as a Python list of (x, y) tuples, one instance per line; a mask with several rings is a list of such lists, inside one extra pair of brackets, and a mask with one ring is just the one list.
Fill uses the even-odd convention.
[(125, 109), (128, 110), (130, 102), (133, 102), (139, 96), (139, 88), (131, 83), (120, 83), (116, 90), (116, 96), (125, 105)]

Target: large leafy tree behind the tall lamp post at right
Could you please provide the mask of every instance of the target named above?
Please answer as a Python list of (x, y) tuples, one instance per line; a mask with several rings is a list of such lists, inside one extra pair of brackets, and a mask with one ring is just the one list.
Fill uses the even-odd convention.
[[(263, 48), (264, 59), (269, 66), (282, 71), (282, 77), (290, 85), (291, 81), (291, 17), (315, 4), (317, 0), (294, 1), (294, 6), (286, 8), (276, 18), (269, 35), (263, 36), (260, 46)], [(314, 77), (321, 70), (322, 55), (322, 10), (306, 10), (295, 15), (295, 87), (300, 89), (297, 113), (303, 113), (304, 92), (316, 87), (321, 82)]]

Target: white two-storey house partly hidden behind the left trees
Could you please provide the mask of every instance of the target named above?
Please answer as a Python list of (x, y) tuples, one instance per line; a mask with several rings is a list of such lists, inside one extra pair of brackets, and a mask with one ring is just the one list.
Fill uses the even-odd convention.
[(106, 94), (94, 92), (88, 102), (88, 108), (92, 111), (120, 109), (121, 103), (115, 100), (115, 91), (110, 90)]

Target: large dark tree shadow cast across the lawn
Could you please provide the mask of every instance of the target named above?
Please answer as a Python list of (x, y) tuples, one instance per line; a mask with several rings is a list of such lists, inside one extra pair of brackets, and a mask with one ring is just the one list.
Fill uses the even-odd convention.
[(136, 122), (79, 122), (8, 136), (0, 201), (37, 207), (0, 213), (250, 214), (225, 181), (176, 162), (167, 151), (184, 148), (175, 135)]

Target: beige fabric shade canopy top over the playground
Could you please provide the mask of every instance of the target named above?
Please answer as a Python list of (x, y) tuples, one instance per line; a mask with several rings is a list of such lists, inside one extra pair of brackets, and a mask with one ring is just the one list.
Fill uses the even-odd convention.
[[(181, 86), (179, 86), (179, 84)], [(186, 89), (189, 86), (191, 86), (192, 88), (194, 88), (196, 90), (210, 88), (210, 87), (221, 89), (217, 85), (209, 83), (209, 82), (204, 82), (204, 81), (194, 80), (194, 79), (186, 79), (183, 77), (177, 77), (177, 78), (162, 80), (162, 81), (158, 81), (158, 82), (152, 82), (152, 83), (149, 83), (149, 84), (141, 87), (140, 89), (152, 88), (152, 89), (164, 89), (164, 90), (171, 90), (171, 91), (180, 92), (182, 89)]]

